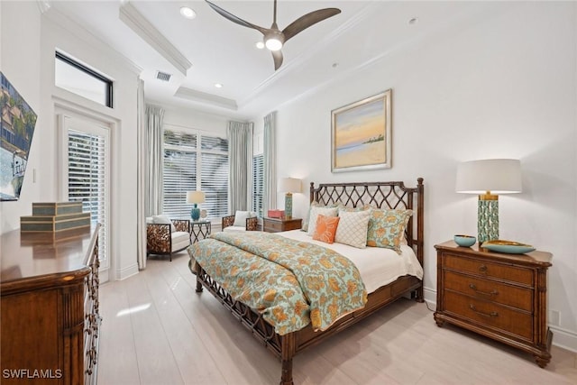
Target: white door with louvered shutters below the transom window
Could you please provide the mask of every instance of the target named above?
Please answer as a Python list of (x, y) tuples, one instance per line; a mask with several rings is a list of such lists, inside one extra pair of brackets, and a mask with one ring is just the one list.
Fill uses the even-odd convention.
[(82, 202), (82, 211), (102, 225), (98, 234), (98, 259), (101, 268), (108, 268), (108, 175), (109, 131), (106, 127), (63, 117), (68, 145), (67, 177), (68, 200)]

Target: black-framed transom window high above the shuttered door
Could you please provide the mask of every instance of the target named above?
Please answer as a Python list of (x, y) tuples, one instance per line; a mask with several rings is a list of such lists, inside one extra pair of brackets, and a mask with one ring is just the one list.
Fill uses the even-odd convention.
[(56, 52), (54, 82), (78, 96), (112, 108), (112, 80), (94, 69)]

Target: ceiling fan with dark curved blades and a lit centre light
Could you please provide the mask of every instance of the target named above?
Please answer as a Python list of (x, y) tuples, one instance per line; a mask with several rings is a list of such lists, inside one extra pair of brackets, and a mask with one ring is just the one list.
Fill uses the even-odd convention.
[(290, 38), (295, 36), (297, 33), (306, 30), (308, 27), (322, 22), (335, 14), (340, 14), (341, 10), (338, 8), (324, 8), (313, 11), (309, 14), (300, 16), (297, 20), (290, 23), (284, 30), (280, 31), (277, 25), (277, 0), (274, 0), (274, 13), (272, 16), (272, 25), (270, 28), (263, 28), (258, 25), (254, 25), (249, 22), (245, 22), (243, 19), (234, 16), (234, 14), (229, 14), (224, 11), (223, 8), (215, 5), (208, 0), (205, 0), (212, 9), (220, 14), (224, 18), (230, 20), (233, 23), (243, 25), (243, 27), (252, 28), (262, 33), (264, 45), (272, 52), (272, 60), (274, 60), (274, 69), (277, 70), (282, 65), (282, 52), (280, 49), (282, 45), (289, 41)]

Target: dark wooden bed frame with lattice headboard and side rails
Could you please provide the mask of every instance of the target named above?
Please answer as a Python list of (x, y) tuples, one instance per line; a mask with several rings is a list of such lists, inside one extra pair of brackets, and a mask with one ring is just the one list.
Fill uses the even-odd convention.
[[(322, 205), (343, 203), (345, 206), (362, 206), (370, 204), (382, 208), (410, 208), (415, 211), (409, 219), (406, 235), (408, 245), (413, 247), (417, 259), (423, 263), (423, 227), (424, 227), (424, 192), (423, 179), (417, 179), (417, 188), (406, 188), (403, 182), (366, 182), (366, 183), (330, 183), (321, 184), (318, 188), (310, 184), (310, 201)], [(361, 310), (344, 316), (324, 332), (314, 332), (311, 325), (287, 335), (277, 335), (274, 327), (242, 302), (235, 301), (218, 282), (215, 282), (201, 266), (197, 266), (197, 292), (203, 286), (217, 298), (224, 307), (231, 310), (243, 325), (252, 331), (252, 335), (261, 341), (272, 353), (279, 357), (282, 371), (280, 385), (292, 385), (292, 359), (298, 352), (318, 344), (330, 335), (339, 333), (362, 318), (371, 315), (382, 307), (389, 305), (406, 295), (423, 302), (423, 282), (413, 276), (403, 276), (369, 294), (369, 300)]]

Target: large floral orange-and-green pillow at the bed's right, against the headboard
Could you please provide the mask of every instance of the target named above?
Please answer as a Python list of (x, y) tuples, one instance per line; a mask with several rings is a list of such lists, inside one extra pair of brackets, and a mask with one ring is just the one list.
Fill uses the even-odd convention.
[(413, 210), (373, 209), (367, 234), (367, 246), (386, 247), (400, 253), (405, 227)]

